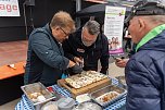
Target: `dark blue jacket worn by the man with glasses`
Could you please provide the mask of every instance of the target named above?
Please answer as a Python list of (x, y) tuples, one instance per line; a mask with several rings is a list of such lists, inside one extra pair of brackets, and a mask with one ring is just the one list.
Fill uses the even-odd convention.
[(46, 86), (51, 86), (61, 78), (68, 61), (62, 47), (52, 36), (49, 25), (37, 28), (28, 39), (24, 82), (25, 84), (41, 82)]

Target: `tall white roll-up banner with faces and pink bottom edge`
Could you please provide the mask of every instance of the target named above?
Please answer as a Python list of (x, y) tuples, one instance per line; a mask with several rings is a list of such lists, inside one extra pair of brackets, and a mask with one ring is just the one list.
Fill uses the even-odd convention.
[(120, 54), (123, 50), (123, 28), (126, 8), (105, 8), (104, 34), (109, 39), (109, 53)]

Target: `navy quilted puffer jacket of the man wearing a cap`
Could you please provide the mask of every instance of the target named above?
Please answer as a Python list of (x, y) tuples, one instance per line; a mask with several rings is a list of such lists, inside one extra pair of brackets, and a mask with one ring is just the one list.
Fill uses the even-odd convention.
[(126, 110), (163, 110), (165, 87), (165, 30), (139, 48), (125, 70), (128, 95)]

